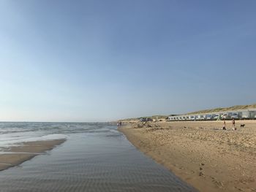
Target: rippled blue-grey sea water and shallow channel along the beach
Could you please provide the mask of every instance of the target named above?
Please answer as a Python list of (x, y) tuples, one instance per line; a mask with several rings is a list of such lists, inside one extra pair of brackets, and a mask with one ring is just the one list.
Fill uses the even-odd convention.
[(66, 138), (0, 172), (0, 191), (196, 191), (140, 153), (109, 123), (0, 123), (0, 149)]

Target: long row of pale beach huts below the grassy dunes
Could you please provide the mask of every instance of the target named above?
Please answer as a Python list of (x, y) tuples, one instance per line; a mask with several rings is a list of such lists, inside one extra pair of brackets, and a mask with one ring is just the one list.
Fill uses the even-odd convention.
[(225, 112), (208, 112), (190, 115), (173, 115), (169, 121), (176, 120), (231, 120), (231, 119), (256, 119), (256, 108), (247, 110), (233, 110)]

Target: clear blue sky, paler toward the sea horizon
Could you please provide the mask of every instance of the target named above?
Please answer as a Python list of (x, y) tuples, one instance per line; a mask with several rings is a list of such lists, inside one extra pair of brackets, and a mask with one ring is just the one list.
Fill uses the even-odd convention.
[(256, 1), (0, 0), (0, 121), (256, 103)]

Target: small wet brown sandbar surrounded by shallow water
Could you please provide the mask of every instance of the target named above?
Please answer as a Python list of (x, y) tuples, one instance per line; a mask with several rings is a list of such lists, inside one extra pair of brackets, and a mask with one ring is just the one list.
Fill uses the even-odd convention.
[(52, 150), (56, 145), (60, 145), (65, 139), (56, 139), (49, 141), (24, 142), (20, 146), (6, 147), (1, 149), (0, 153), (0, 171), (17, 166), (33, 158), (36, 155)]

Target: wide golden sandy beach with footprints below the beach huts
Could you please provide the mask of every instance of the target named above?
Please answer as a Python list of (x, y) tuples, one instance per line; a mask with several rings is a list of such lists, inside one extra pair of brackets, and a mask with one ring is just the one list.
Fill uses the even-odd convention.
[[(240, 128), (245, 124), (244, 128)], [(256, 121), (131, 123), (132, 144), (199, 191), (256, 191)]]

